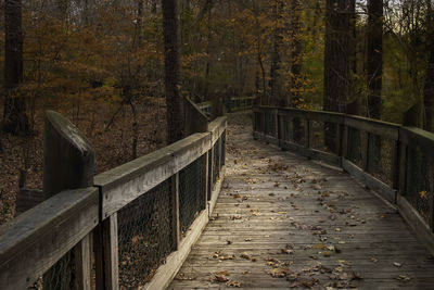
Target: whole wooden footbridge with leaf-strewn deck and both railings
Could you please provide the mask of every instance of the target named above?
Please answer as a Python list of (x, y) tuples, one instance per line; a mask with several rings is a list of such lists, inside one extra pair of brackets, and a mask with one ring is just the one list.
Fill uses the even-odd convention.
[(273, 108), (203, 128), (2, 226), (0, 289), (434, 289), (433, 134)]

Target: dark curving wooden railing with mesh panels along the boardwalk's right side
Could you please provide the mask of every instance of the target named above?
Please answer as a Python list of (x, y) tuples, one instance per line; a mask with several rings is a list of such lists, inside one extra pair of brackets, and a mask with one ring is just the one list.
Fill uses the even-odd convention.
[(332, 112), (253, 111), (255, 138), (342, 166), (395, 204), (434, 253), (434, 134)]

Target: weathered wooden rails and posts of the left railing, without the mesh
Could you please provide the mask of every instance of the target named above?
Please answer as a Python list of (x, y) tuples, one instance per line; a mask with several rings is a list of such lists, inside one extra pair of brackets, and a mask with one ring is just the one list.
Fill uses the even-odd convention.
[[(92, 232), (97, 289), (117, 289), (117, 212), (164, 180), (176, 181), (173, 182), (175, 186), (173, 193), (178, 194), (176, 187), (179, 187), (177, 179), (179, 172), (201, 156), (205, 156), (202, 159), (205, 163), (201, 166), (206, 168), (205, 176), (202, 177), (206, 207), (207, 198), (210, 196), (207, 189), (213, 190), (207, 184), (213, 174), (210, 157), (215, 154), (213, 144), (222, 138), (226, 126), (226, 117), (219, 117), (209, 124), (207, 133), (193, 134), (161, 150), (97, 175), (93, 187), (62, 191), (2, 225), (0, 289), (25, 289), (31, 286), (77, 245), (87, 248), (85, 250), (92, 253), (91, 244), (84, 242), (88, 241), (87, 238)], [(225, 148), (219, 146), (218, 150)], [(219, 191), (221, 180), (218, 184), (219, 187), (214, 189), (216, 192)], [(213, 201), (208, 204), (209, 209), (197, 215), (192, 225), (195, 227), (192, 230), (194, 235), (189, 234), (177, 255), (168, 257), (168, 261), (171, 261), (168, 263), (170, 273), (156, 275), (156, 281), (150, 281), (151, 288), (163, 288), (176, 274), (182, 261), (187, 259), (192, 243), (208, 222), (208, 211), (213, 210), (216, 199), (214, 194)], [(167, 206), (174, 207), (179, 204), (175, 202)], [(179, 215), (176, 209), (173, 209), (173, 213)], [(179, 229), (176, 228), (179, 227), (179, 222), (176, 223), (176, 216), (173, 219), (175, 223), (173, 236), (179, 238), (177, 234)]]

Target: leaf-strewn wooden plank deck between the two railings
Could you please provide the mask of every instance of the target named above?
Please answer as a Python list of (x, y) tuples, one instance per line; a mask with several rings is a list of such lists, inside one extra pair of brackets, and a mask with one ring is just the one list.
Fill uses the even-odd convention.
[(237, 117), (214, 218), (168, 289), (434, 289), (433, 257), (391, 205)]

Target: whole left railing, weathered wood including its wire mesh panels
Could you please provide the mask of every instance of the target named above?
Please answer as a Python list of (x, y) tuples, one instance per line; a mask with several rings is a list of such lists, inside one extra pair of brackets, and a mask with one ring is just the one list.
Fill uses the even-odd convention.
[(36, 281), (44, 290), (165, 288), (214, 209), (226, 126), (218, 117), (208, 131), (97, 175), (93, 186), (64, 190), (1, 226), (0, 289)]

